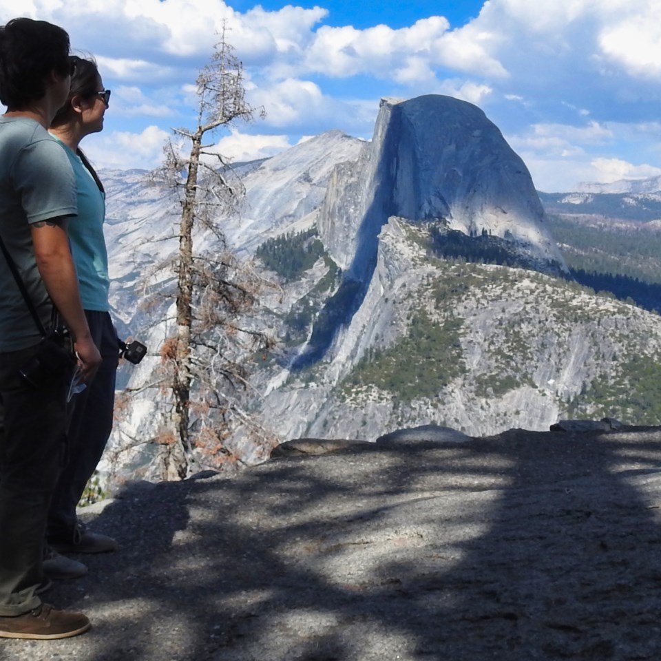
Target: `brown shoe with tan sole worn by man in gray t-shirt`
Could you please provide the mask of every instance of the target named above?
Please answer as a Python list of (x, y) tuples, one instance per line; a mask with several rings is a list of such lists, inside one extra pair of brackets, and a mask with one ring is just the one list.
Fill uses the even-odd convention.
[(83, 613), (56, 611), (48, 604), (17, 616), (0, 616), (0, 638), (70, 638), (92, 625)]

